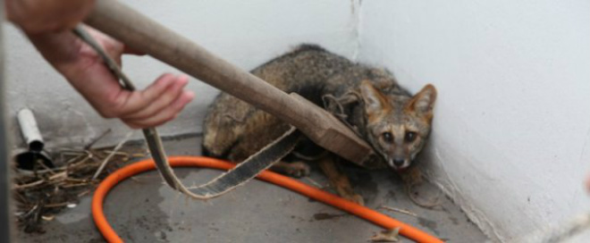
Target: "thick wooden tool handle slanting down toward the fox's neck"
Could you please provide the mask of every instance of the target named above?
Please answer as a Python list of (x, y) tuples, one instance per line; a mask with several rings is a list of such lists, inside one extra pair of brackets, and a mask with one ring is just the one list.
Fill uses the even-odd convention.
[[(85, 22), (134, 49), (185, 71), (198, 80), (273, 114), (282, 121), (291, 123), (318, 145), (334, 150), (322, 144), (325, 143), (321, 142), (324, 138), (318, 138), (323, 136), (323, 132), (317, 132), (320, 128), (316, 124), (333, 122), (333, 117), (325, 117), (328, 113), (324, 110), (316, 105), (310, 107), (308, 103), (292, 98), (282, 90), (210, 54), (203, 47), (134, 11), (131, 7), (114, 0), (98, 0)], [(355, 140), (352, 147), (356, 147), (357, 152), (342, 152), (340, 149), (333, 152), (353, 162), (364, 160), (370, 147), (341, 123), (340, 126), (345, 130), (337, 129), (336, 140), (339, 139), (338, 136), (350, 137), (346, 140)], [(350, 146), (347, 150), (350, 150)]]

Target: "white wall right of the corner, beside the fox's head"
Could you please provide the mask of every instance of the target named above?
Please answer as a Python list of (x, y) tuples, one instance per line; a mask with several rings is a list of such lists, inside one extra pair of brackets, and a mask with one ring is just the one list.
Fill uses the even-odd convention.
[(434, 178), (494, 239), (587, 211), (590, 2), (361, 5), (360, 55), (438, 88)]

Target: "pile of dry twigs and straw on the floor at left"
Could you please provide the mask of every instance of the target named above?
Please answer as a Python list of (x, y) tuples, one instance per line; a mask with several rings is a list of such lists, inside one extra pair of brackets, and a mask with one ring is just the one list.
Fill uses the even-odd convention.
[[(79, 204), (108, 174), (127, 162), (145, 157), (145, 150), (116, 151), (113, 147), (64, 148), (53, 153), (55, 168), (32, 161), (32, 170), (16, 169), (13, 198), (16, 219), (25, 232), (43, 233), (43, 221), (52, 221), (64, 208)], [(104, 170), (99, 172), (101, 165)], [(95, 173), (97, 173), (95, 178)]]

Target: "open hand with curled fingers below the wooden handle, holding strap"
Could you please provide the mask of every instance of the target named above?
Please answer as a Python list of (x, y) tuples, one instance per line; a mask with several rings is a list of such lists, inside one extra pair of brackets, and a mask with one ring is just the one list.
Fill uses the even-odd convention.
[[(132, 53), (122, 43), (94, 29), (90, 35), (117, 63)], [(173, 120), (194, 97), (183, 90), (188, 78), (164, 74), (140, 91), (123, 89), (100, 56), (71, 31), (29, 34), (46, 60), (105, 118), (120, 118), (133, 129)]]

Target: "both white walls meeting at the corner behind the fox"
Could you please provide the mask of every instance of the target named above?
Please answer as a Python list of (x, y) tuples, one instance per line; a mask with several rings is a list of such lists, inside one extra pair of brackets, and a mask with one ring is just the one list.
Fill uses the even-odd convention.
[[(360, 15), (359, 0), (124, 2), (244, 69), (310, 42), (384, 65), (412, 91), (433, 83), (425, 161), (494, 239), (563, 222), (590, 203), (588, 1), (366, 0)], [(31, 107), (53, 147), (107, 128), (106, 143), (122, 138), (120, 121), (97, 116), (17, 30), (5, 34), (10, 117)], [(139, 87), (173, 71), (149, 57), (124, 63)], [(201, 130), (217, 91), (197, 80), (189, 88), (197, 99), (164, 134)]]

